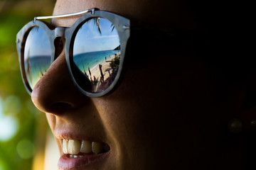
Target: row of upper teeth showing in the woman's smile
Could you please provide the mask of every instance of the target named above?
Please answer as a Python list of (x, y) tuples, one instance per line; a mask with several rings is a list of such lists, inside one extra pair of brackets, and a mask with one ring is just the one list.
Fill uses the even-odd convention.
[(64, 154), (78, 154), (93, 152), (98, 154), (102, 151), (108, 151), (108, 145), (103, 145), (100, 142), (90, 142), (88, 140), (63, 140), (63, 153)]

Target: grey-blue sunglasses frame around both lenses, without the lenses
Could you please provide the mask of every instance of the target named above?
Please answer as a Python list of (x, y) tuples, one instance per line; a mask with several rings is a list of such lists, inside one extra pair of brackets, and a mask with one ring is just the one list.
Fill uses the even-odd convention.
[[(117, 33), (119, 35), (120, 50), (121, 50), (119, 70), (117, 72), (116, 77), (114, 78), (114, 81), (109, 87), (107, 87), (107, 89), (99, 93), (91, 93), (82, 89), (82, 87), (78, 83), (79, 80), (78, 80), (78, 77), (76, 77), (75, 64), (73, 63), (73, 44), (75, 40), (75, 35), (78, 29), (80, 28), (80, 26), (92, 18), (106, 18), (108, 21), (110, 21), (114, 25), (114, 28), (117, 29)], [(68, 71), (70, 72), (70, 77), (73, 80), (75, 87), (78, 88), (82, 92), (82, 94), (85, 94), (88, 97), (100, 97), (100, 96), (105, 96), (106, 94), (109, 94), (110, 91), (114, 89), (114, 87), (118, 83), (119, 78), (121, 77), (121, 74), (122, 74), (122, 69), (124, 64), (124, 55), (127, 47), (127, 41), (129, 40), (129, 36), (130, 36), (129, 19), (108, 11), (93, 10), (93, 11), (89, 11), (88, 13), (85, 13), (83, 16), (78, 18), (78, 21), (76, 21), (73, 24), (73, 26), (71, 26), (70, 28), (54, 27), (50, 25), (50, 23), (39, 21), (36, 18), (34, 21), (27, 23), (26, 26), (23, 26), (23, 28), (21, 28), (21, 30), (18, 32), (16, 36), (16, 47), (18, 51), (18, 60), (20, 64), (23, 84), (25, 85), (26, 90), (30, 95), (32, 93), (32, 89), (26, 78), (26, 72), (24, 68), (24, 47), (26, 44), (26, 38), (28, 37), (29, 31), (35, 26), (39, 26), (43, 28), (43, 30), (45, 30), (46, 33), (48, 34), (48, 38), (50, 40), (50, 47), (51, 47), (50, 64), (52, 64), (55, 58), (58, 57), (58, 56), (55, 56), (55, 45), (54, 45), (55, 39), (58, 37), (65, 38), (65, 60), (68, 65)]]

